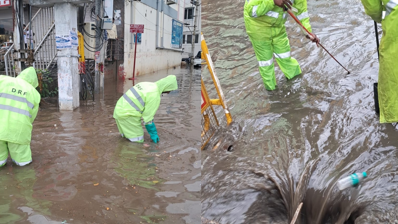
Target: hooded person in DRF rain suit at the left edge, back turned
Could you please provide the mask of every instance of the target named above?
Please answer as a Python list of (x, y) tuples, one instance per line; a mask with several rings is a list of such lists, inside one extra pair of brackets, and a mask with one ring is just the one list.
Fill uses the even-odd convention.
[(36, 71), (29, 67), (16, 78), (0, 75), (0, 167), (8, 152), (17, 165), (31, 163), (32, 123), (39, 110)]

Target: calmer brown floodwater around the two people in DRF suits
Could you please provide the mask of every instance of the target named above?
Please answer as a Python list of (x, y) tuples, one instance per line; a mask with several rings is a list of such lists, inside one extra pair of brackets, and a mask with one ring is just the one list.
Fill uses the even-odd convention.
[[(0, 169), (0, 224), (200, 223), (200, 69), (161, 70), (135, 83), (176, 75), (154, 122), (160, 143), (121, 138), (113, 109), (133, 81), (107, 81), (96, 101), (59, 111), (41, 106), (33, 163)], [(56, 126), (55, 126), (56, 125)]]

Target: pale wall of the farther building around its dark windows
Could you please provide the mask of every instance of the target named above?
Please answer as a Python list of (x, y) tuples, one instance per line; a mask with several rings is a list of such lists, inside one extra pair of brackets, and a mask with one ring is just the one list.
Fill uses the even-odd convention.
[[(191, 8), (193, 7), (193, 5), (191, 4), (191, 0), (184, 0), (184, 12), (185, 12), (185, 8)], [(201, 17), (202, 17), (202, 5), (199, 5), (199, 11), (198, 11), (198, 19), (196, 22), (196, 34), (199, 34), (199, 40), (198, 43), (195, 43), (195, 49), (194, 49), (194, 56), (196, 56), (196, 54), (202, 49), (201, 47), (201, 30), (202, 30), (202, 22), (201, 22)], [(193, 15), (195, 16), (195, 10), (193, 11)], [(184, 16), (184, 14), (182, 15)], [(184, 18), (184, 17), (182, 17)], [(190, 24), (190, 25), (184, 25), (184, 30), (183, 30), (183, 35), (185, 35), (185, 41), (187, 39), (187, 35), (192, 35), (193, 34), (193, 26), (195, 24), (195, 18), (193, 18), (192, 20), (184, 20), (184, 24)], [(189, 27), (187, 27), (189, 26)], [(192, 50), (192, 45), (191, 43), (183, 43), (182, 45), (183, 51), (184, 53), (182, 54), (182, 58), (184, 57), (189, 57), (188, 55), (191, 54), (191, 50)]]

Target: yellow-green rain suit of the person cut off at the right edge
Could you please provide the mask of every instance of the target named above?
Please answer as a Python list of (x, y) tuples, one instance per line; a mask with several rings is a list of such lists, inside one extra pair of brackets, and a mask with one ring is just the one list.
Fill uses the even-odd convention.
[(380, 123), (398, 122), (398, 0), (361, 0), (365, 12), (380, 23), (378, 103)]

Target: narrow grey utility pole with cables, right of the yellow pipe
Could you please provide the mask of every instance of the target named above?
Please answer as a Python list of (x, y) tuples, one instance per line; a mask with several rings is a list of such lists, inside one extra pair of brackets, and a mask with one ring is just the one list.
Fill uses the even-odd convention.
[[(103, 10), (101, 8), (101, 5), (102, 5), (101, 3), (102, 3), (102, 0), (96, 0), (96, 21), (97, 21), (96, 26), (99, 29), (101, 29), (101, 20), (102, 20), (102, 12), (103, 12)], [(100, 35), (102, 35), (101, 32), (100, 32)], [(99, 49), (99, 47), (101, 46), (101, 36), (100, 35), (96, 37), (96, 44), (94, 45), (95, 49), (96, 49), (95, 55), (97, 55), (97, 53), (100, 54), (100, 52), (101, 52), (101, 49)], [(96, 57), (96, 56), (94, 57), (95, 65), (96, 65), (95, 66), (95, 76), (94, 76), (94, 92), (96, 94), (100, 93), (100, 69), (101, 69), (100, 68), (100, 62), (101, 62), (100, 55), (98, 55), (98, 57)], [(97, 61), (97, 58), (99, 58), (100, 60)]]

